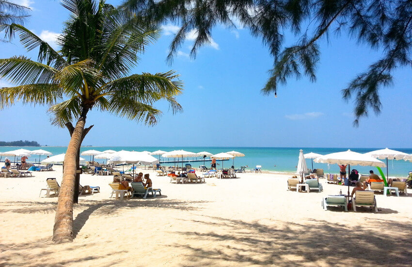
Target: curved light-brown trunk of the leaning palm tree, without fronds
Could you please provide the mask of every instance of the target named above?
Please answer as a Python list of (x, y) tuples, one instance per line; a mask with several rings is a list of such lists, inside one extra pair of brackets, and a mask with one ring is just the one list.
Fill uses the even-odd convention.
[(73, 196), (76, 190), (76, 160), (85, 123), (86, 116), (80, 117), (64, 156), (63, 181), (60, 187), (53, 228), (53, 241), (56, 243), (73, 241)]

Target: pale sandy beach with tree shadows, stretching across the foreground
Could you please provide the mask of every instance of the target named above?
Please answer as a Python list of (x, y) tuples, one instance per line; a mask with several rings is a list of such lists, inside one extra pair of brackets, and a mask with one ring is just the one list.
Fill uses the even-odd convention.
[(112, 176), (82, 174), (100, 193), (74, 206), (74, 241), (51, 241), (57, 198), (39, 197), (46, 178), (0, 179), (0, 266), (411, 266), (412, 191), (376, 194), (380, 211), (324, 211), (324, 191), (288, 191), (281, 174), (170, 184), (150, 173), (162, 196), (110, 199)]

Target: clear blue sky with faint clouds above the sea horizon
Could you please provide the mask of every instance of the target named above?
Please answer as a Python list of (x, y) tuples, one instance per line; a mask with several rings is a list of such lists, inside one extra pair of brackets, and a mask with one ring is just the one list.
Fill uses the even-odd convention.
[[(53, 42), (61, 32), (68, 12), (55, 0), (16, 0), (30, 6), (26, 27)], [(120, 1), (107, 1), (117, 4)], [(216, 27), (213, 43), (188, 57), (189, 36), (169, 66), (165, 59), (176, 27), (165, 25), (162, 37), (146, 48), (133, 73), (170, 69), (181, 74), (185, 90), (178, 96), (184, 112), (173, 115), (164, 102), (158, 125), (147, 127), (125, 118), (92, 110), (87, 125), (94, 124), (83, 145), (113, 146), (243, 146), (243, 147), (363, 147), (411, 148), (411, 68), (397, 69), (394, 86), (380, 91), (382, 113), (373, 112), (354, 128), (353, 103), (342, 100), (340, 90), (356, 74), (380, 56), (379, 51), (349, 41), (345, 34), (322, 40), (317, 82), (291, 78), (278, 91), (278, 98), (263, 96), (273, 59), (267, 47), (247, 29)], [(292, 34), (286, 39), (294, 41)], [(290, 45), (287, 43), (286, 45)], [(0, 57), (28, 55), (17, 39), (1, 44)], [(0, 86), (8, 83), (0, 81)], [(47, 107), (16, 104), (0, 111), (8, 127), (1, 127), (1, 140), (35, 140), (42, 145), (65, 146), (66, 129), (51, 126)], [(3, 125), (4, 126), (4, 125)]]

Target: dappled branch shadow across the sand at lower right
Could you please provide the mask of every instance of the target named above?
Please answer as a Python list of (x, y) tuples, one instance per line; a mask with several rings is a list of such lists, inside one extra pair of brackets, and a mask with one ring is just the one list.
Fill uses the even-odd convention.
[[(411, 266), (410, 223), (377, 219), (373, 228), (312, 219), (307, 225), (272, 226), (221, 217), (191, 220), (212, 226), (212, 232), (180, 232), (197, 243), (187, 244), (189, 264), (295, 266)], [(284, 225), (283, 221), (279, 221)], [(202, 229), (198, 227), (197, 229)], [(206, 229), (209, 229), (207, 227)], [(222, 230), (222, 231), (219, 231)], [(200, 230), (201, 231), (201, 230)], [(208, 246), (197, 244), (213, 243)], [(175, 244), (182, 247), (182, 244)]]

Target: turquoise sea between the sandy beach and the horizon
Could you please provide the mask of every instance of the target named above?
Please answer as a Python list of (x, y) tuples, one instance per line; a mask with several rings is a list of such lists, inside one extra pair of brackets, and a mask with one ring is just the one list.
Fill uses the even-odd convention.
[[(67, 147), (0, 147), (0, 152), (9, 151), (9, 150), (16, 150), (24, 148), (27, 150), (37, 150), (43, 149), (49, 152), (52, 152), (53, 155), (65, 153)], [(245, 154), (244, 157), (236, 157), (234, 165), (235, 167), (240, 166), (248, 166), (249, 168), (254, 168), (256, 165), (261, 165), (263, 170), (273, 171), (273, 172), (295, 172), (296, 167), (298, 164), (299, 159), (299, 150), (302, 149), (303, 153), (315, 152), (322, 155), (346, 151), (348, 148), (248, 148), (248, 147), (81, 147), (80, 151), (85, 150), (134, 150), (134, 151), (155, 151), (155, 150), (164, 150), (164, 151), (172, 151), (172, 150), (187, 150), (191, 152), (200, 152), (200, 151), (207, 151), (212, 154), (220, 153), (220, 152), (227, 152), (231, 150), (239, 151)], [(359, 153), (366, 153), (372, 150), (378, 150), (382, 148), (376, 149), (361, 149), (361, 148), (350, 148), (350, 150), (359, 152)], [(399, 150), (405, 153), (412, 154), (412, 149), (396, 149), (391, 148), (394, 150)], [(86, 160), (89, 160), (89, 156), (82, 156)], [(158, 156), (155, 156), (158, 158)], [(9, 157), (11, 158), (11, 157)], [(43, 160), (45, 156), (41, 156), (40, 160)], [(91, 157), (90, 157), (91, 158)], [(190, 158), (190, 160), (195, 158)], [(198, 158), (201, 159), (201, 158)], [(208, 158), (206, 158), (208, 159)], [(13, 158), (11, 158), (13, 160)], [(39, 156), (32, 155), (29, 158), (29, 161), (36, 161), (38, 162)], [(160, 160), (173, 160), (173, 159), (163, 159)], [(185, 158), (184, 160), (187, 160)], [(1, 161), (4, 161), (4, 156), (1, 158)], [(104, 162), (106, 160), (97, 160), (98, 162)], [(383, 160), (386, 162), (386, 160)], [(232, 160), (229, 161), (217, 161), (218, 167), (230, 167), (232, 166)], [(306, 164), (308, 168), (312, 168), (312, 163), (310, 159), (306, 159)], [(173, 165), (173, 164), (166, 164), (166, 165)], [(193, 162), (191, 163), (192, 166), (197, 167), (199, 165), (203, 165), (203, 162)], [(210, 162), (206, 162), (206, 166), (210, 166)], [(323, 168), (325, 173), (333, 172), (338, 173), (339, 167), (334, 165), (328, 165), (323, 163), (313, 163), (313, 168)], [(351, 169), (356, 168), (360, 173), (366, 174), (369, 173), (369, 170), (374, 170), (377, 173), (376, 167), (362, 167), (362, 166), (351, 166)], [(386, 174), (386, 168), (382, 168), (383, 172)], [(388, 171), (389, 176), (407, 176), (409, 171), (412, 171), (412, 162), (404, 161), (404, 160), (389, 160), (388, 161)]]

